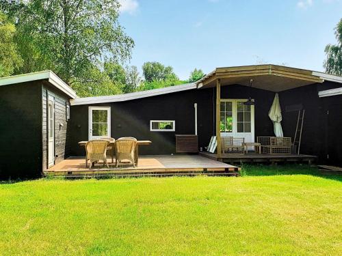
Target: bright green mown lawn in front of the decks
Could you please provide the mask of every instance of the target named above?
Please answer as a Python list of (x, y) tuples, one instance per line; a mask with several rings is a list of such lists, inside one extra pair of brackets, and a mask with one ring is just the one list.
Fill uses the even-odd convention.
[(0, 184), (0, 255), (342, 255), (339, 177), (243, 174)]

